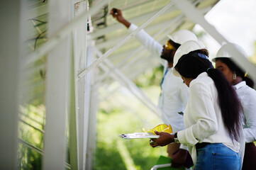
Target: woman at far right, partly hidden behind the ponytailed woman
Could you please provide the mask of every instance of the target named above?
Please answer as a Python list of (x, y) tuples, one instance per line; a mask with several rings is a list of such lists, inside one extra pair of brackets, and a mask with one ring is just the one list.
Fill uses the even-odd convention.
[[(246, 52), (240, 45), (230, 44), (234, 45), (246, 59)], [(256, 147), (253, 143), (256, 140), (256, 91), (252, 89), (254, 81), (248, 77), (242, 68), (233, 62), (232, 55), (226, 50), (227, 47), (228, 44), (223, 45), (212, 61), (216, 62), (216, 69), (223, 72), (230, 84), (233, 85), (243, 106), (243, 113), (245, 114), (245, 125), (243, 125), (245, 156), (242, 169), (256, 169)]]

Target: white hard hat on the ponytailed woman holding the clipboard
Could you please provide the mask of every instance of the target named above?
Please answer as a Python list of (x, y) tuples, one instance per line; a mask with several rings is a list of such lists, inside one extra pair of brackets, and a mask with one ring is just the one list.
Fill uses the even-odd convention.
[[(181, 46), (179, 46), (178, 50), (175, 52), (175, 55), (173, 58), (173, 67), (176, 66), (179, 59), (183, 55), (187, 55), (191, 51), (201, 50), (201, 49), (206, 49), (206, 46), (199, 40), (189, 40), (187, 42), (184, 42)], [(173, 69), (172, 72), (173, 72), (174, 76), (181, 77), (179, 72), (177, 72), (177, 70), (175, 68)]]

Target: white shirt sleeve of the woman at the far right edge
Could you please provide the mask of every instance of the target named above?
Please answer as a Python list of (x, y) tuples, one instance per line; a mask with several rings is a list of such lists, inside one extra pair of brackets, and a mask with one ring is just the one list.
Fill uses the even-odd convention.
[(245, 142), (254, 142), (256, 140), (256, 92), (250, 91), (249, 95), (242, 100), (245, 113)]

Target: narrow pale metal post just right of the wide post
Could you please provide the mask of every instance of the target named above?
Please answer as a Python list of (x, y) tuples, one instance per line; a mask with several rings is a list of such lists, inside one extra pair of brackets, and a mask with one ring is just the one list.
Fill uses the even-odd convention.
[[(74, 17), (79, 17), (84, 11), (88, 12), (87, 8), (88, 1), (77, 1), (74, 4)], [(85, 91), (85, 78), (77, 80), (77, 74), (82, 72), (86, 68), (87, 63), (87, 19), (74, 28), (73, 40), (74, 40), (74, 91), (75, 91), (75, 106), (76, 106), (76, 130), (72, 133), (77, 135), (77, 162), (79, 169), (85, 169), (85, 153), (86, 153), (86, 142), (87, 142), (87, 130), (84, 129), (84, 124), (87, 124), (87, 118), (85, 118), (85, 110), (87, 109), (84, 105), (87, 93)]]

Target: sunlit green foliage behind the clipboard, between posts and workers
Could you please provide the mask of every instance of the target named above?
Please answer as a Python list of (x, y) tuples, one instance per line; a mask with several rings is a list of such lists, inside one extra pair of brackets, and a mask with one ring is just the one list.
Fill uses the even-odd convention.
[[(155, 91), (157, 96), (159, 93), (155, 86), (143, 90), (150, 96), (154, 94), (152, 91)], [(152, 148), (149, 145), (149, 139), (123, 140), (118, 136), (125, 133), (143, 132), (142, 128), (152, 128), (160, 124), (160, 120), (148, 109), (145, 110), (131, 96), (121, 98), (121, 96), (114, 95), (113, 98), (101, 102), (97, 115), (94, 170), (151, 169), (160, 155), (167, 155), (166, 147)], [(132, 113), (116, 101), (127, 103), (130, 108), (135, 109), (136, 113)]]

